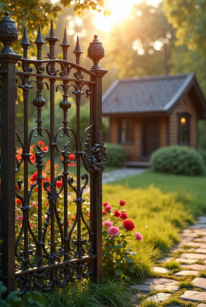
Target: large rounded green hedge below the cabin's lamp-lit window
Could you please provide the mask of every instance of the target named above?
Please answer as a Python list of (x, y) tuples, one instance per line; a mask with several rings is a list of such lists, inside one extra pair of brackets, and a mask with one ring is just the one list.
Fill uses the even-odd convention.
[(187, 146), (159, 148), (152, 153), (150, 161), (155, 172), (198, 176), (205, 171), (200, 153)]

